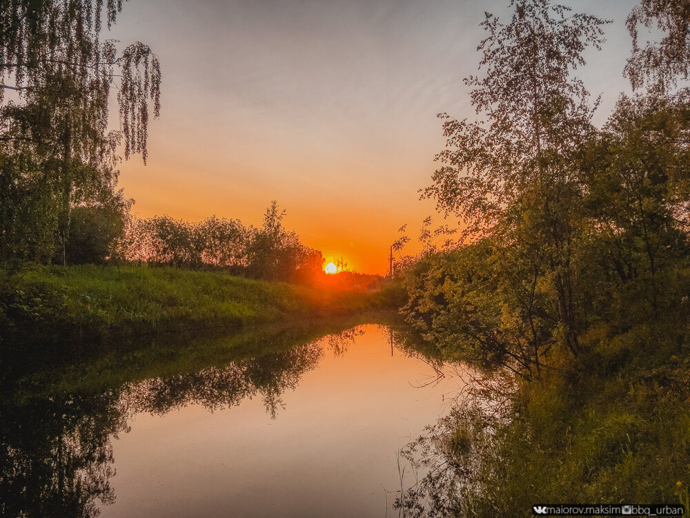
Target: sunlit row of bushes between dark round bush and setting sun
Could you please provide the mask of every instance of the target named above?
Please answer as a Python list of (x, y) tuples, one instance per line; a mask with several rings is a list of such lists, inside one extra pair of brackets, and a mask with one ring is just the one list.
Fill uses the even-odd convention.
[(211, 216), (201, 222), (169, 216), (132, 218), (113, 245), (113, 257), (181, 268), (224, 269), (266, 280), (311, 282), (322, 274), (321, 252), (282, 224), (285, 211), (274, 201), (261, 227)]

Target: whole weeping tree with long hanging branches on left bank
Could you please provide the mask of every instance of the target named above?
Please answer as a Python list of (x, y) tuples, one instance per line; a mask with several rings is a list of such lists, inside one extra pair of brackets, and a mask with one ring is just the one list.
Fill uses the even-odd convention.
[[(9, 168), (14, 175), (2, 183), (23, 189), (41, 184), (40, 196), (9, 189), (3, 197), (24, 195), (54, 208), (56, 221), (50, 223), (57, 225), (63, 262), (71, 207), (88, 200), (94, 188), (114, 188), (121, 142), (125, 157), (141, 153), (146, 161), (149, 113), (159, 114), (157, 56), (139, 42), (118, 54), (115, 41), (101, 41), (102, 22), (110, 28), (121, 8), (121, 0), (105, 6), (102, 0), (0, 3), (0, 160), (15, 164)], [(116, 78), (122, 131), (109, 132), (108, 97)], [(1, 220), (0, 239), (16, 225), (32, 224), (17, 220), (27, 215), (15, 211)]]

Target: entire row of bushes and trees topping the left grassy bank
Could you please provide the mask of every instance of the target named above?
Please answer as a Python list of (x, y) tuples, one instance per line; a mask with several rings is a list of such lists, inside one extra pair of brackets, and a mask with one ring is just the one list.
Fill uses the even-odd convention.
[[(261, 227), (246, 227), (239, 220), (215, 216), (200, 222), (166, 215), (141, 219), (130, 216), (131, 203), (117, 193), (103, 201), (75, 205), (70, 209), (64, 246), (52, 231), (46, 231), (41, 238), (27, 230), (25, 236), (17, 237), (18, 242), (30, 241), (26, 242), (27, 248), (8, 249), (3, 258), (68, 265), (145, 262), (324, 285), (322, 253), (307, 247), (295, 232), (283, 227), (284, 212), (275, 202), (266, 210)], [(14, 227), (14, 231), (23, 232), (21, 227)], [(5, 237), (10, 239), (10, 233)], [(45, 246), (34, 242), (39, 239), (45, 241)]]

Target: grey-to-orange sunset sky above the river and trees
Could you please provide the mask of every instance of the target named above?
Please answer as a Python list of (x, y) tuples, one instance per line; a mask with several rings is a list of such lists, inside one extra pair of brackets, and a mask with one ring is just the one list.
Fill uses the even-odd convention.
[[(163, 70), (148, 165), (121, 165), (133, 211), (258, 225), (277, 200), (286, 227), (326, 262), (384, 273), (397, 229), (408, 223), (415, 238), (434, 213), (417, 191), (444, 146), (436, 114), (474, 117), (462, 79), (477, 70), (484, 10), (508, 3), (127, 2), (106, 37), (150, 45)], [(564, 3), (613, 19), (603, 51), (578, 72), (602, 93), (601, 124), (629, 91), (624, 19), (637, 2)]]

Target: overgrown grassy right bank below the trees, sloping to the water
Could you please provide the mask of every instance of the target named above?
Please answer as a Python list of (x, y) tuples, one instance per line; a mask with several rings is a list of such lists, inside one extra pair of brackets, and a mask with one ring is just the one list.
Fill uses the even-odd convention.
[(418, 516), (529, 517), (537, 503), (682, 503), (687, 514), (687, 314), (640, 320), (590, 327), (586, 352), (553, 354), (541, 378), (517, 381), (504, 419), (456, 409), (426, 452), (449, 477), (409, 495), (424, 503)]

